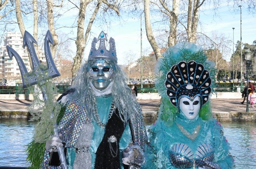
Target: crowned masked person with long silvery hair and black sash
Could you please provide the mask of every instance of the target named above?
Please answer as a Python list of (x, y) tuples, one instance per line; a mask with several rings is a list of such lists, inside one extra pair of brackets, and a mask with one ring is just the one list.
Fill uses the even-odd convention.
[[(139, 169), (145, 161), (142, 148), (147, 134), (142, 110), (117, 65), (114, 39), (109, 40), (109, 50), (105, 40), (103, 31), (93, 39), (87, 63), (78, 71), (71, 90), (59, 99), (64, 107), (58, 122), (62, 139), (47, 141), (43, 168), (61, 168), (50, 166), (52, 160), (54, 163), (50, 156), (62, 142), (67, 148), (68, 169)], [(128, 159), (128, 165), (122, 158)]]

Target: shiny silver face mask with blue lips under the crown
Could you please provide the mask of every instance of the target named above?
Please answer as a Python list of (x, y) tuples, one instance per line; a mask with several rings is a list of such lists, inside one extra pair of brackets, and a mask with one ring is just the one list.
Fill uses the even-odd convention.
[(97, 90), (104, 90), (113, 81), (114, 74), (112, 66), (105, 59), (97, 59), (91, 65), (89, 79)]

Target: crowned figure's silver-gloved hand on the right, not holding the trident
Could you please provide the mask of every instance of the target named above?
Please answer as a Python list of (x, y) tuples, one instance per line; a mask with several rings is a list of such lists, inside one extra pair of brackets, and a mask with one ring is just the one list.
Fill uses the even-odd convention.
[(137, 165), (141, 166), (145, 163), (145, 155), (140, 146), (128, 146), (122, 152), (123, 158), (122, 163), (125, 165)]

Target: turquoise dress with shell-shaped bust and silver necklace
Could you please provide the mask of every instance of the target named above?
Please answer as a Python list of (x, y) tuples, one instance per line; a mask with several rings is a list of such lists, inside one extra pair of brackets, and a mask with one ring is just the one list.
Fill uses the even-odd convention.
[(171, 126), (158, 120), (148, 132), (150, 142), (145, 148), (145, 169), (233, 167), (233, 158), (229, 155), (230, 146), (223, 135), (223, 128), (213, 118), (209, 121), (201, 117), (188, 120), (179, 114)]

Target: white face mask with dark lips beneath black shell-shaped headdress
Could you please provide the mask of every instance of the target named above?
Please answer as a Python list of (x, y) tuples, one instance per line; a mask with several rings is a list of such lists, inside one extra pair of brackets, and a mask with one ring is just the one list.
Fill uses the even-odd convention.
[(180, 98), (180, 113), (183, 113), (186, 118), (192, 120), (198, 116), (200, 110), (200, 97), (196, 96), (193, 101), (186, 97)]

